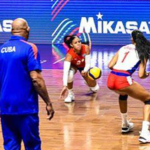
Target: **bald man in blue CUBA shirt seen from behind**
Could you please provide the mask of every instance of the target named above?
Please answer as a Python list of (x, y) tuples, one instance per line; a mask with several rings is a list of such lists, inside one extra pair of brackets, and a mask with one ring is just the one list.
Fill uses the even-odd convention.
[(11, 38), (0, 47), (0, 114), (5, 150), (41, 150), (38, 94), (46, 103), (48, 118), (54, 115), (41, 75), (37, 47), (28, 43), (26, 20), (12, 23)]

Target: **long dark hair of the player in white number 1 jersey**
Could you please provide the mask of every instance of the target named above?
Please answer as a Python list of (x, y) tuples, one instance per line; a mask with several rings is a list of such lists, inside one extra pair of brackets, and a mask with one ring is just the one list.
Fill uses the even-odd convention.
[(144, 62), (144, 59), (150, 59), (150, 42), (144, 37), (143, 33), (139, 30), (134, 30), (132, 38), (136, 43), (136, 50), (140, 60)]

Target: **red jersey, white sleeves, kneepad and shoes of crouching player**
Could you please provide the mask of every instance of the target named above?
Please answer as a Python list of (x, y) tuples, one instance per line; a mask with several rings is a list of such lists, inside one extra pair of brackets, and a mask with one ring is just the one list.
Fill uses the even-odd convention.
[[(73, 48), (70, 48), (68, 53), (72, 56), (71, 62), (64, 61), (64, 73), (63, 73), (63, 85), (68, 86), (68, 83), (73, 83), (73, 78), (76, 69), (80, 72), (88, 72), (90, 68), (90, 54), (86, 52), (86, 46), (84, 44), (81, 45), (80, 54), (75, 53)], [(94, 87), (89, 87), (91, 91), (97, 92), (99, 89), (99, 85), (96, 84)], [(74, 93), (72, 89), (68, 90), (68, 96), (64, 99), (66, 103), (70, 103), (75, 99)]]

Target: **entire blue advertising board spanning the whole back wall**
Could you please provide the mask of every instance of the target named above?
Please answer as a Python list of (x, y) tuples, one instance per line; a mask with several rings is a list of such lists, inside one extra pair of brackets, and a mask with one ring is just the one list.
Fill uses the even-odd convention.
[[(127, 33), (127, 22), (134, 21), (137, 25), (132, 28), (140, 28), (145, 36), (150, 39), (150, 1), (142, 0), (1, 0), (0, 1), (0, 43), (6, 41), (10, 32), (4, 32), (4, 20), (25, 18), (30, 27), (29, 41), (36, 44), (62, 44), (63, 38), (68, 34), (78, 34), (82, 41), (91, 37), (94, 45), (124, 45), (130, 43), (130, 34)], [(98, 14), (103, 15), (98, 18)], [(82, 17), (93, 18), (93, 23), (98, 31), (98, 22), (111, 25), (115, 30), (124, 28), (125, 33), (104, 32), (106, 25), (102, 26), (101, 33), (79, 33)], [(145, 24), (143, 24), (145, 22)], [(89, 25), (89, 24), (88, 24)], [(130, 25), (130, 26), (131, 26)], [(2, 30), (2, 31), (1, 31)], [(131, 31), (131, 29), (130, 29)]]

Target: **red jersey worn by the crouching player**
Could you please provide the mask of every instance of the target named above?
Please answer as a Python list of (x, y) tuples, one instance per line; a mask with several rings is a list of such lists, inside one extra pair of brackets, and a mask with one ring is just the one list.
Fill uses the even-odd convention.
[(85, 67), (85, 45), (82, 44), (80, 54), (75, 53), (73, 48), (70, 48), (67, 54), (72, 56), (71, 66), (77, 68), (81, 72)]

